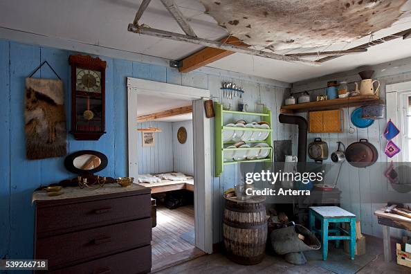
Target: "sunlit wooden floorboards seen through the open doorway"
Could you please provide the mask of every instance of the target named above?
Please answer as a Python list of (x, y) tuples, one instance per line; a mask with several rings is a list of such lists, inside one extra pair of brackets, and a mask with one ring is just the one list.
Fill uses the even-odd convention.
[(158, 205), (152, 239), (152, 272), (203, 255), (194, 244), (182, 238), (185, 233), (194, 235), (194, 206), (170, 210)]

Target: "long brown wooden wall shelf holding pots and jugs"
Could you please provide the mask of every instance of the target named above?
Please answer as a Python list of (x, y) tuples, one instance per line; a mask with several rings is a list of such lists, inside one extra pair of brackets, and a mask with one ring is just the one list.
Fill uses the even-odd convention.
[(282, 106), (281, 113), (298, 113), (304, 111), (318, 111), (328, 109), (340, 109), (342, 107), (356, 107), (366, 104), (384, 104), (378, 95), (358, 95), (355, 97), (338, 98), (333, 100), (325, 100), (318, 102), (307, 102), (302, 104), (291, 104)]

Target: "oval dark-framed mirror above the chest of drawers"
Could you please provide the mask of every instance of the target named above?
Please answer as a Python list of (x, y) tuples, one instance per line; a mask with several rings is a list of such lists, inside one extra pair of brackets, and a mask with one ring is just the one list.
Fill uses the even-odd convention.
[(75, 174), (94, 174), (107, 167), (107, 156), (94, 150), (80, 150), (64, 159), (64, 166)]

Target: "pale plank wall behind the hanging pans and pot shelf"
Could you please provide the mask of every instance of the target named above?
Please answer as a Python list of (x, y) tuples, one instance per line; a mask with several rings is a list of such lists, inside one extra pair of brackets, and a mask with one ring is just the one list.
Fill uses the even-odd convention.
[[(385, 64), (378, 64), (373, 66), (374, 80), (381, 82), (380, 98), (385, 100), (385, 85), (394, 84), (398, 82), (406, 82), (411, 80), (411, 58), (405, 60), (398, 60)], [(302, 81), (293, 84), (291, 92), (309, 91), (311, 100), (315, 100), (316, 95), (324, 94), (324, 87), (327, 86), (327, 80), (347, 81), (349, 83), (349, 89), (354, 89), (354, 82), (360, 82), (360, 77), (357, 74), (358, 71), (347, 71), (344, 73), (336, 73), (333, 75), (326, 75), (318, 77), (316, 79)], [(296, 94), (298, 97), (299, 94)], [(392, 190), (391, 186), (387, 184), (387, 179), (381, 176), (381, 170), (387, 167), (389, 158), (384, 154), (385, 145), (387, 140), (383, 137), (386, 119), (376, 120), (374, 125), (366, 129), (357, 129), (354, 134), (349, 134), (349, 118), (351, 112), (355, 107), (344, 109), (345, 131), (340, 134), (309, 134), (309, 143), (313, 138), (320, 137), (322, 140), (329, 144), (329, 151), (334, 152), (337, 148), (336, 142), (340, 140), (346, 146), (350, 143), (354, 143), (360, 138), (366, 138), (372, 143), (378, 150), (378, 161), (376, 165), (368, 167), (367, 169), (357, 169), (356, 172), (352, 172), (352, 167), (348, 163), (343, 163), (343, 167), (338, 178), (338, 188), (342, 191), (341, 194), (341, 206), (350, 212), (357, 215), (361, 220), (361, 229), (365, 234), (382, 237), (381, 225), (378, 224), (377, 218), (374, 216), (374, 211), (385, 206), (387, 201), (394, 194), (398, 193)], [(302, 116), (308, 118), (304, 113)], [(296, 134), (296, 130), (291, 131), (292, 134)], [(295, 143), (293, 143), (295, 146)], [(293, 149), (294, 152), (294, 149)], [(308, 158), (308, 157), (307, 157)], [(311, 161), (311, 160), (309, 160)], [(328, 159), (326, 163), (332, 162)], [(338, 165), (331, 164), (331, 171), (327, 174), (326, 178), (334, 179), (338, 172)], [(409, 197), (409, 193), (400, 194), (402, 197)], [(402, 230), (392, 228), (391, 234), (393, 237), (401, 237), (402, 235), (409, 235)]]

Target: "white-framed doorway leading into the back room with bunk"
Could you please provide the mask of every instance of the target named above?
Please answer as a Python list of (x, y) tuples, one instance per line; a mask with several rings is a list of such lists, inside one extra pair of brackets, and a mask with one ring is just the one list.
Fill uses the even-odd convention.
[[(147, 104), (147, 100), (153, 100), (151, 97), (156, 97), (154, 102), (158, 102), (161, 104), (164, 100), (167, 102), (181, 102), (186, 101), (190, 102), (192, 105), (192, 147), (193, 147), (193, 154), (192, 154), (192, 170), (193, 176), (192, 180), (194, 181), (194, 189), (190, 183), (175, 183), (178, 185), (178, 188), (181, 190), (186, 190), (190, 192), (190, 188), (193, 191), (192, 197), (194, 199), (194, 206), (190, 207), (190, 204), (183, 206), (181, 208), (176, 208), (173, 214), (170, 214), (169, 208), (165, 207), (164, 202), (161, 201), (158, 207), (158, 217), (161, 217), (162, 220), (158, 219), (158, 230), (163, 231), (163, 236), (165, 230), (170, 232), (170, 237), (173, 238), (176, 243), (179, 243), (180, 238), (183, 239), (183, 246), (180, 246), (179, 249), (185, 249), (192, 244), (194, 249), (187, 248), (183, 250), (185, 256), (196, 257), (200, 255), (200, 253), (212, 253), (212, 216), (211, 216), (211, 193), (212, 193), (212, 185), (211, 185), (211, 159), (210, 159), (210, 120), (205, 117), (204, 107), (203, 107), (203, 99), (210, 97), (210, 92), (204, 89), (195, 89), (188, 86), (179, 86), (175, 84), (166, 84), (161, 82), (153, 82), (148, 80), (140, 80), (136, 78), (127, 78), (127, 90), (128, 90), (128, 124), (129, 124), (129, 176), (134, 178), (138, 178), (139, 176), (143, 176), (145, 171), (149, 171), (147, 169), (147, 158), (142, 158), (141, 152), (145, 149), (143, 147), (143, 136), (141, 135), (141, 131), (138, 131), (138, 127), (143, 127), (143, 125), (139, 125), (137, 117), (139, 116), (138, 113), (138, 106), (139, 100), (145, 101)], [(181, 107), (188, 107), (186, 106), (174, 106), (174, 109), (179, 109)], [(140, 109), (141, 103), (140, 103)], [(153, 111), (151, 111), (153, 112)], [(161, 111), (158, 111), (161, 112)], [(142, 114), (142, 113), (140, 113)], [(147, 114), (147, 113), (145, 113)], [(140, 115), (143, 116), (143, 115)], [(172, 118), (171, 118), (172, 119)], [(151, 124), (144, 125), (144, 128), (152, 127), (158, 128), (161, 127), (159, 122), (165, 121), (152, 121)], [(188, 125), (186, 123), (186, 125)], [(163, 127), (167, 127), (163, 124)], [(177, 127), (175, 130), (178, 131)], [(158, 132), (161, 134), (162, 132)], [(154, 142), (156, 142), (154, 140)], [(147, 150), (147, 149), (146, 149)], [(153, 150), (155, 151), (155, 149)], [(162, 153), (164, 150), (162, 151)], [(151, 161), (151, 158), (150, 158)], [(165, 163), (165, 162), (164, 162)], [(151, 164), (151, 163), (150, 163)], [(165, 163), (168, 164), (170, 168), (170, 162)], [(156, 165), (154, 161), (154, 165)], [(161, 165), (157, 164), (157, 170), (161, 170)], [(173, 172), (174, 164), (173, 164)], [(165, 172), (163, 168), (161, 172)], [(160, 173), (161, 173), (160, 172)], [(174, 172), (176, 173), (176, 172)], [(180, 172), (184, 174), (184, 172)], [(189, 172), (188, 172), (189, 173)], [(185, 174), (189, 175), (189, 174)], [(167, 183), (166, 183), (167, 184)], [(165, 190), (171, 190), (171, 192), (176, 190), (176, 185), (167, 184), (164, 185), (163, 189), (157, 188), (154, 190), (152, 188), (152, 192), (157, 192), (161, 190), (161, 192), (169, 192)], [(158, 193), (161, 193), (158, 192)], [(156, 194), (156, 193), (154, 193)], [(175, 197), (174, 197), (175, 198)], [(159, 201), (161, 198), (158, 198)], [(177, 197), (178, 199), (178, 197)], [(174, 221), (173, 221), (174, 220)], [(179, 227), (176, 225), (175, 221), (180, 220), (180, 224), (185, 222), (187, 225), (183, 227)], [(160, 222), (163, 221), (163, 224)], [(194, 221), (194, 223), (193, 223)], [(167, 226), (167, 222), (174, 227), (174, 232), (170, 226)], [(190, 223), (192, 223), (192, 229), (190, 230)], [(190, 231), (185, 231), (190, 230)], [(177, 235), (175, 231), (181, 232), (180, 236)], [(156, 228), (153, 229), (153, 244), (156, 244), (156, 240), (158, 241), (157, 244), (161, 244), (160, 241), (167, 241), (164, 239), (165, 237), (161, 237), (161, 233), (159, 234), (159, 238), (156, 239)], [(171, 239), (170, 238), (170, 239)], [(170, 239), (168, 240), (170, 243)], [(190, 243), (191, 241), (191, 243)], [(174, 243), (175, 244), (175, 243)], [(169, 244), (172, 246), (173, 244)], [(158, 246), (161, 248), (161, 245)], [(158, 250), (157, 250), (158, 251)], [(175, 251), (175, 250), (174, 250)], [(174, 253), (173, 250), (163, 250), (163, 253)], [(189, 254), (190, 253), (190, 254)], [(163, 254), (163, 255), (164, 255)], [(156, 256), (161, 256), (162, 254), (157, 254)], [(154, 257), (154, 256), (153, 256)], [(171, 257), (171, 256), (167, 256)], [(167, 260), (158, 258), (160, 262), (166, 262)], [(174, 260), (178, 261), (181, 258), (174, 258)], [(158, 266), (157, 266), (158, 267)], [(157, 268), (156, 267), (156, 268)]]

